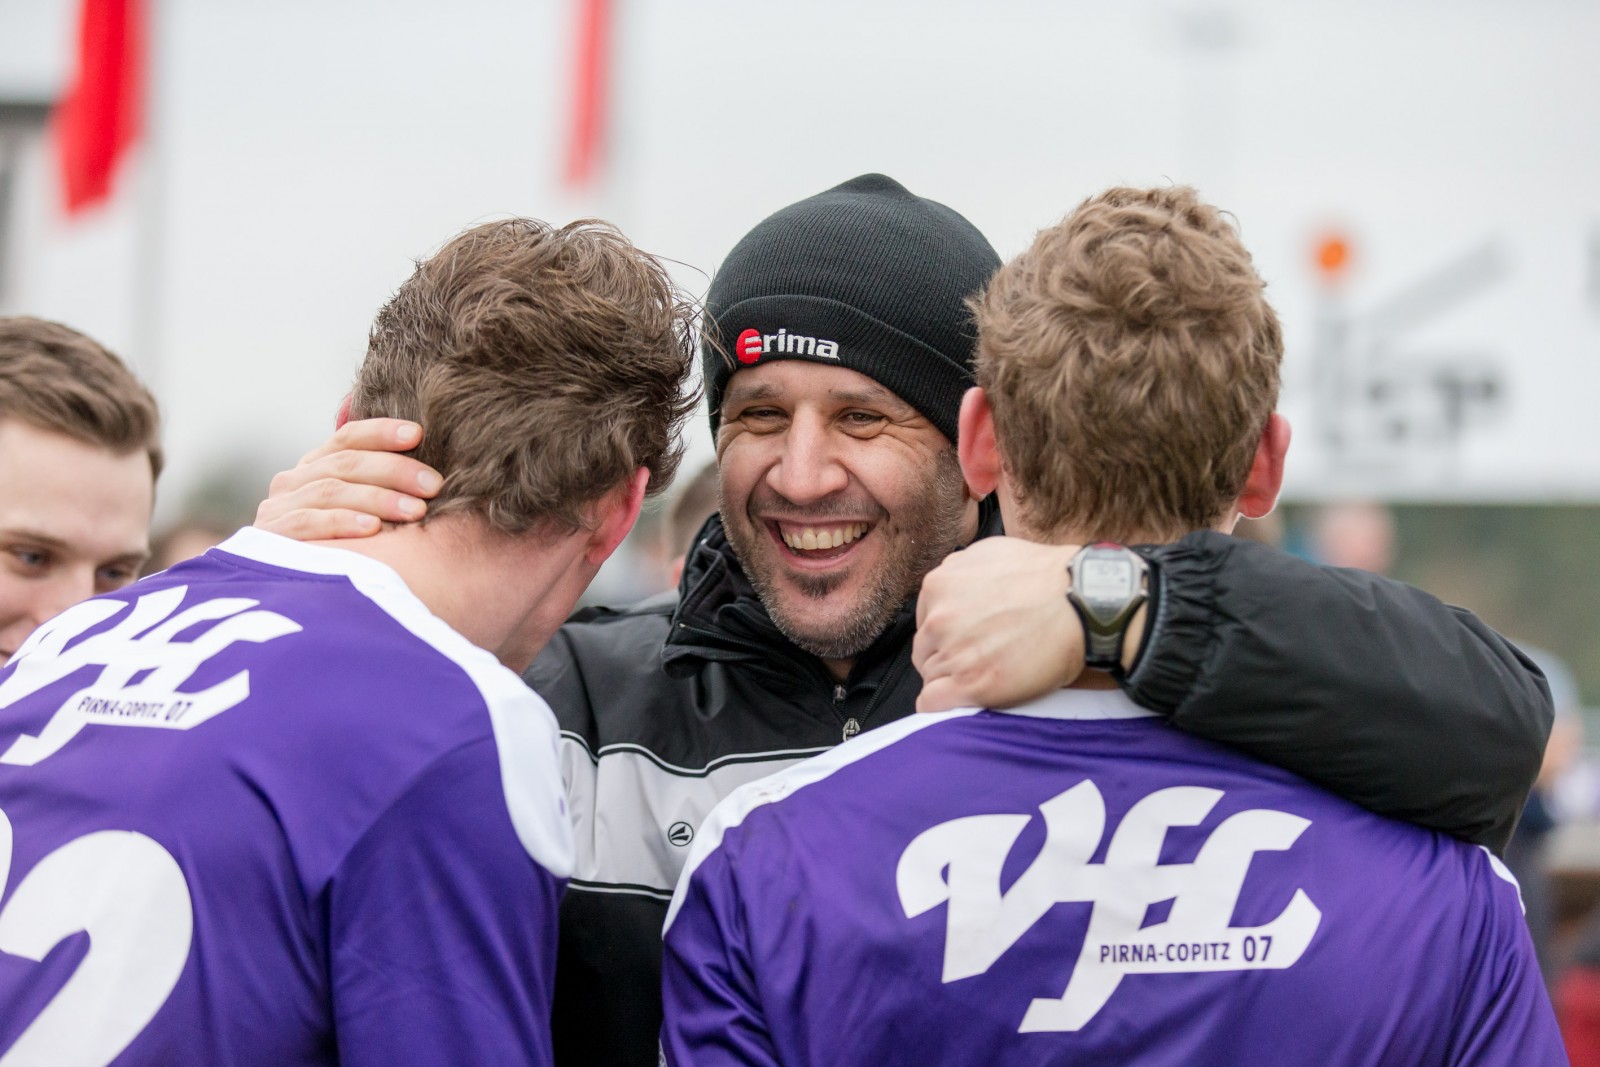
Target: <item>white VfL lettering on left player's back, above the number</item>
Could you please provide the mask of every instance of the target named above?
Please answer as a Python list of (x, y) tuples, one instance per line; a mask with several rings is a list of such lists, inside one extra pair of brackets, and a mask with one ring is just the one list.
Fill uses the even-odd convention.
[[(22, 734), (0, 753), (0, 763), (34, 766), (54, 755), (90, 723), (102, 726), (152, 726), (192, 729), (238, 705), (250, 696), (250, 672), (238, 673), (195, 693), (178, 686), (211, 657), (237, 641), (262, 643), (301, 625), (274, 611), (250, 611), (259, 601), (221, 597), (178, 606), (187, 585), (176, 585), (139, 597), (128, 617), (85, 638), (70, 649), (67, 643), (130, 605), (120, 600), (91, 600), (56, 616), (18, 649), (16, 670), (0, 683), (0, 707), (8, 707), (48, 685), (85, 669), (101, 667), (93, 685), (69, 696), (38, 736)], [(189, 640), (178, 633), (205, 622), (216, 622)], [(134, 675), (146, 675), (133, 681)]]

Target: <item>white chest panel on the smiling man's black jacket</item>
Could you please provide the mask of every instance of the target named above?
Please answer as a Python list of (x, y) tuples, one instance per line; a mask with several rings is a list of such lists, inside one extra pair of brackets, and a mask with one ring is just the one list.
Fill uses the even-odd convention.
[(669, 899), (690, 843), (723, 797), (827, 750), (728, 755), (685, 768), (634, 744), (605, 745), (597, 755), (563, 733), (562, 774), (578, 838), (568, 891)]

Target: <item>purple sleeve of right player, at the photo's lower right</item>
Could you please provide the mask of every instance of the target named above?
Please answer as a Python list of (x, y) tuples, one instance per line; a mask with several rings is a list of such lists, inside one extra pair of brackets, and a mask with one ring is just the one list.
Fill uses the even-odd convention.
[(1539, 974), (1517, 883), (1488, 856), (1462, 929), (1466, 968), (1450, 1062), (1466, 1067), (1565, 1067), (1566, 1048)]

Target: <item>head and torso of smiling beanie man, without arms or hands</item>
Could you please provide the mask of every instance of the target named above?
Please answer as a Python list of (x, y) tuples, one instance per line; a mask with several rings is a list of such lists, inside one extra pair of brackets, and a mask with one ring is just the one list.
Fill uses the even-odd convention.
[(528, 673), (565, 709), (578, 821), (562, 1064), (654, 1062), (661, 925), (710, 808), (912, 712), (917, 585), (998, 531), (955, 459), (963, 301), (998, 266), (965, 218), (867, 174), (755, 226), (712, 278), (722, 514), (677, 598), (579, 614)]

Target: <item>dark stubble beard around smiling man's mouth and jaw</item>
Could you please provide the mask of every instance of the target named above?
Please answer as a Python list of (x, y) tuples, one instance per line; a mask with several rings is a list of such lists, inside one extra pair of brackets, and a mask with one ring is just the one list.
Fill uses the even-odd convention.
[(960, 545), (965, 515), (966, 491), (962, 467), (955, 450), (944, 450), (938, 453), (933, 478), (926, 491), (918, 494), (918, 502), (880, 522), (869, 534), (885, 539), (890, 545), (888, 555), (874, 568), (866, 587), (846, 606), (843, 616), (826, 624), (826, 629), (814, 622), (806, 624), (802, 613), (789, 609), (784, 597), (792, 595), (790, 590), (798, 590), (808, 600), (824, 600), (850, 581), (850, 571), (790, 573), (784, 585), (778, 577), (781, 565), (773, 558), (771, 545), (762, 544), (768, 536), (762, 523), (749, 515), (730, 523), (723, 515), (723, 528), (734, 557), (778, 632), (819, 659), (853, 659), (888, 629), (901, 605), (922, 587), (923, 576)]

